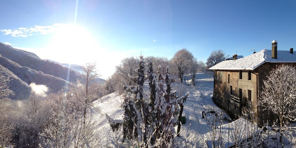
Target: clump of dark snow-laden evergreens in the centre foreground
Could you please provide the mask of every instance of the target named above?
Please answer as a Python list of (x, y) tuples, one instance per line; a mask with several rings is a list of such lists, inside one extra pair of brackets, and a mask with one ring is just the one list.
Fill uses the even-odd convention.
[[(131, 142), (137, 141), (137, 147), (168, 147), (172, 144), (173, 135), (176, 133), (174, 126), (178, 121), (179, 108), (187, 95), (176, 99), (176, 91), (171, 92), (168, 67), (165, 79), (163, 79), (159, 66), (158, 83), (156, 83), (157, 75), (153, 73), (153, 63), (150, 60), (147, 70), (150, 92), (148, 99), (143, 89), (144, 62), (142, 56), (136, 72), (138, 74), (136, 77), (130, 76), (136, 86), (123, 83), (123, 89), (126, 91), (123, 102), (123, 120), (113, 120), (108, 115), (106, 117), (113, 131), (119, 130), (122, 126), (123, 141), (125, 139)], [(166, 90), (164, 81), (167, 85)]]

